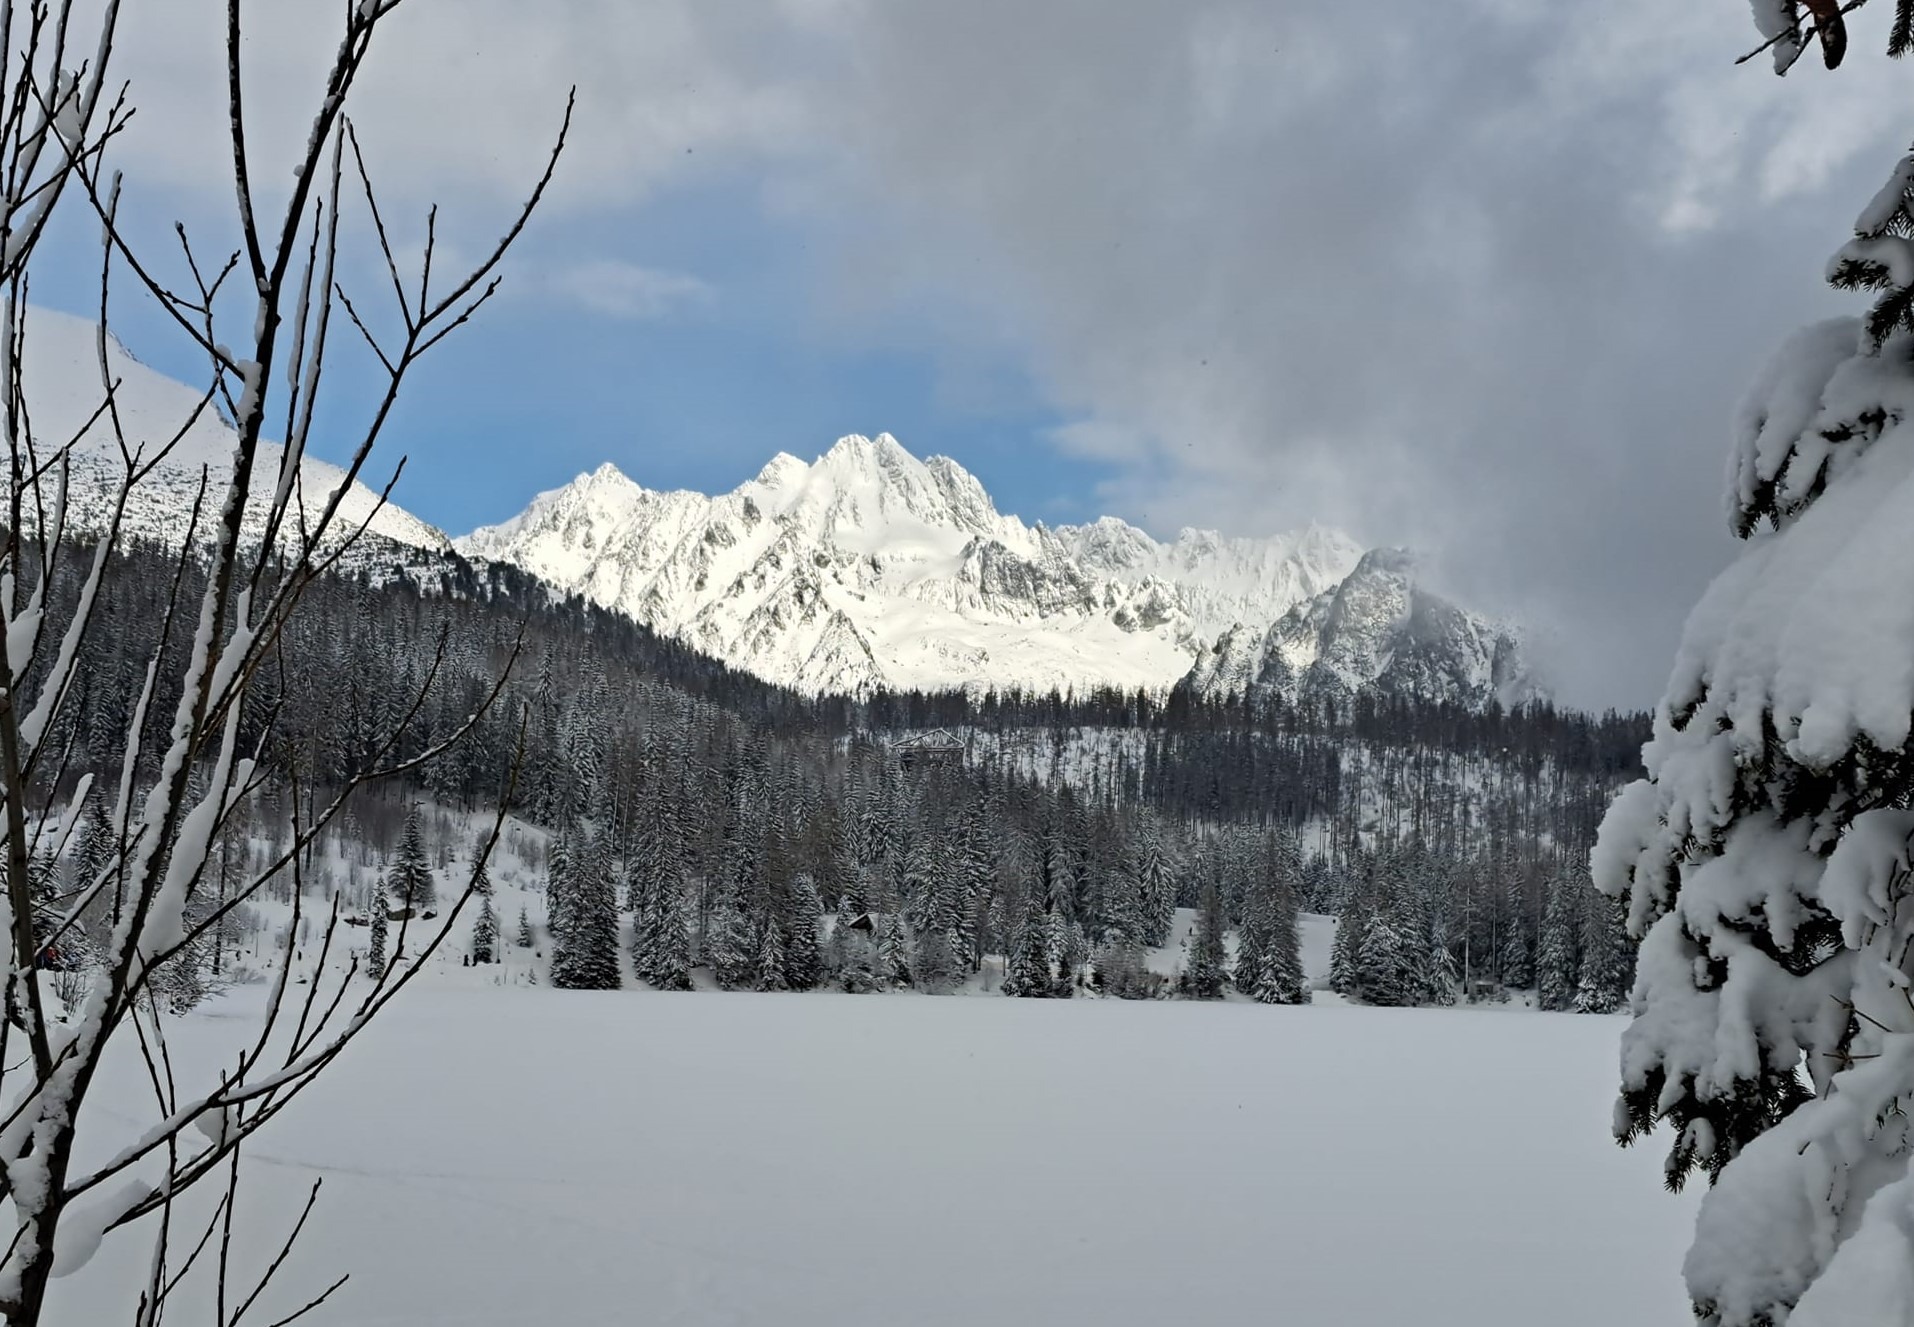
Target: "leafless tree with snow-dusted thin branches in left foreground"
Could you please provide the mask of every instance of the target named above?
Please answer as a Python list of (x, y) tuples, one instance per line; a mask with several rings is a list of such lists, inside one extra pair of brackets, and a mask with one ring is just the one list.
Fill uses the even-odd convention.
[[(268, 218), (258, 207), (247, 146), (241, 0), (228, 2), (226, 75), (239, 243), (222, 262), (209, 262), (180, 228), (180, 253), (168, 262), (184, 280), (168, 283), (161, 266), (128, 243), (121, 224), (121, 184), (107, 169), (113, 142), (132, 113), (124, 88), (109, 82), (119, 0), (90, 6), (84, 50), (75, 0), (0, 0), (0, 33), (8, 38), (0, 50), (0, 94), (6, 98), (0, 105), (0, 427), (10, 461), (0, 530), (0, 634), (6, 641), (0, 659), (0, 869), (6, 877), (0, 933), (10, 938), (0, 944), (6, 1013), (0, 1023), (0, 1235), (8, 1235), (0, 1247), (0, 1317), (8, 1323), (38, 1323), (56, 1262), (63, 1271), (82, 1264), (103, 1235), (134, 1222), (147, 1224), (155, 1245), (132, 1314), (136, 1323), (149, 1327), (161, 1319), (168, 1296), (203, 1254), (209, 1264), (216, 1258), (218, 1323), (237, 1323), (283, 1260), (281, 1252), (243, 1293), (226, 1266), (241, 1145), (406, 986), (471, 894), (467, 885), (425, 942), (410, 950), (410, 961), (377, 977), (354, 973), (350, 965), (339, 975), (339, 965), (331, 963), (335, 971), (327, 977), (341, 919), (335, 894), (318, 965), (295, 973), (299, 910), (308, 894), (299, 873), (314, 837), (358, 787), (406, 776), (431, 760), (498, 697), (494, 687), (465, 724), (433, 733), (423, 751), (408, 747), (412, 754), (398, 754), (400, 730), (417, 722), (436, 659), (444, 659), (444, 641), (410, 712), (379, 745), (371, 770), (345, 787), (297, 787), (297, 766), (272, 758), (270, 714), (266, 737), (245, 739), (245, 745), (243, 731), (253, 728), (241, 724), (255, 682), (270, 668), (297, 664), (281, 657), (281, 634), (300, 594), (366, 532), (369, 517), (345, 523), (341, 500), (364, 471), (410, 370), (498, 289), (500, 262), (544, 195), (570, 128), (567, 101), (536, 186), (475, 268), (452, 280), (434, 268), (434, 209), (425, 218), (423, 255), (402, 276), (406, 264), (394, 253), (346, 117), (375, 34), (398, 4), (352, 0), (345, 6), (323, 96), (299, 159), (291, 163), (283, 213)], [(285, 180), (287, 169), (276, 165), (270, 174)], [(354, 303), (345, 289), (343, 205), (364, 211), (360, 230), (375, 264), (390, 278), (392, 310), (387, 314)], [(119, 448), (119, 469), (107, 511), (96, 513), (84, 532), (69, 523), (67, 506), (80, 439), (34, 435), (21, 373), (21, 352), (33, 337), (27, 274), (56, 211), (82, 213), (82, 220), (90, 213), (101, 234), (100, 394), (82, 433), (98, 439), (98, 431), (107, 431)], [(170, 316), (207, 360), (205, 393), (170, 437), (130, 437), (117, 408), (109, 289), (128, 274), (134, 295)], [(302, 458), (327, 349), (341, 331), (331, 318), (335, 310), (345, 314), (343, 335), (369, 347), (383, 383), (366, 402), (364, 431), (345, 481), (329, 492), (306, 492)], [(379, 327), (394, 329), (381, 333)], [(115, 785), (94, 789), (92, 774), (75, 779), (67, 768), (71, 753), (57, 749), (59, 710), (75, 695), (82, 643), (101, 630), (100, 586), (119, 553), (128, 498), (211, 410), (220, 410), (234, 427), (230, 473), (201, 473), (188, 534), (174, 550), (165, 628), (159, 640), (138, 643), (147, 664), (117, 779), (111, 779)], [(264, 440), (274, 425), (283, 444)], [(77, 592), (56, 596), (57, 586)], [(69, 607), (56, 609), (56, 599)], [(180, 649), (176, 641), (168, 651), (167, 638), (174, 634), (186, 645)], [(503, 674), (498, 682), (503, 686)], [(161, 728), (155, 720), (168, 705), (170, 722)], [(163, 739), (149, 741), (151, 731), (163, 731)], [(209, 867), (226, 866), (214, 866), (220, 829), (272, 777), (295, 781), (283, 798), (293, 808), (289, 841), (226, 888), (203, 890)], [(498, 839), (505, 797), (509, 789), (501, 791), (475, 875)], [(88, 798), (107, 808), (109, 850), (96, 862), (98, 869), (50, 904), (44, 888), (36, 892), (34, 862), (61, 852)], [(214, 1078), (193, 1082), (167, 1053), (168, 1015), (155, 998), (155, 980), (168, 961), (189, 954), (226, 913), (281, 871), (293, 875), (295, 911), (270, 971), (262, 1023)], [(71, 1007), (59, 1019), (52, 1011), (54, 982), (46, 969), (77, 934), (82, 915), (105, 915), (111, 925), (86, 980), (77, 982), (71, 973), (61, 978)], [(400, 950), (406, 952), (404, 927)], [(138, 1055), (155, 1111), (151, 1128), (98, 1160), (101, 1147), (77, 1151), (77, 1145), (90, 1128), (82, 1105), (109, 1055)], [(80, 1155), (90, 1160), (78, 1164)], [(207, 1180), (224, 1187), (211, 1224), (176, 1229), (180, 1195)], [(302, 1224), (304, 1216), (293, 1237)], [(214, 1241), (220, 1231), (224, 1237)], [(209, 1245), (218, 1252), (207, 1254)], [(176, 1248), (186, 1248), (184, 1256), (176, 1256)]]

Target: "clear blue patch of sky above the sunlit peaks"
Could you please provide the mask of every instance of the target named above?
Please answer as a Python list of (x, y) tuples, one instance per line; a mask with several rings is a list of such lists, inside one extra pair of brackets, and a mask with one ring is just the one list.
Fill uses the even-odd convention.
[[(921, 456), (957, 458), (1030, 521), (1099, 515), (1112, 467), (1043, 444), (1064, 417), (1013, 354), (953, 356), (913, 333), (909, 306), (846, 320), (819, 289), (817, 243), (802, 218), (768, 214), (752, 180), (670, 190), (618, 216), (540, 216), (528, 262), (507, 264), (496, 303), (412, 379), (377, 454), (387, 465), (408, 458), (396, 500), (463, 534), (607, 460), (651, 488), (718, 492), (775, 452), (810, 460), (846, 433), (888, 431)], [(634, 255), (702, 289), (643, 310), (540, 291), (524, 266), (567, 251)], [(86, 236), (67, 232), (50, 259), (36, 299), (92, 314)], [(182, 379), (201, 373), (191, 345), (151, 308), (130, 295), (115, 308), (142, 360)], [(343, 320), (335, 337), (337, 364), (367, 364)], [(339, 425), (316, 439), (327, 460), (356, 440)]]

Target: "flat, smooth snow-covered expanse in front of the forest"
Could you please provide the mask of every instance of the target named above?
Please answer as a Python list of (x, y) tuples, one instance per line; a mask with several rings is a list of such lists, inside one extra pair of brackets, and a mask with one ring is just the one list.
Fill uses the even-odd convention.
[[(343, 1271), (316, 1321), (1688, 1321), (1692, 1197), (1608, 1141), (1619, 1019), (427, 977), (247, 1162), (241, 1268), (325, 1178), (262, 1323)], [(144, 1256), (50, 1321), (126, 1319)]]

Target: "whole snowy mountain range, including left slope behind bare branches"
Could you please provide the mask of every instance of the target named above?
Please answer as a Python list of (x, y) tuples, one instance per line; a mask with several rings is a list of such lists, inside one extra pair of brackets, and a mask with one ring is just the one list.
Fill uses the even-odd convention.
[[(201, 391), (115, 341), (107, 366), (122, 431), (149, 454), (199, 406)], [(36, 442), (80, 437), (69, 507), (82, 525), (98, 519), (121, 452), (94, 416), (94, 324), (34, 310), (23, 373)], [(230, 446), (216, 408), (199, 410), (128, 507), (128, 529), (178, 542), (201, 473), (230, 473)], [(266, 461), (256, 498), (276, 456)], [(343, 477), (304, 460), (308, 509)], [(1480, 705), (1533, 691), (1520, 634), (1432, 594), (1403, 550), (1317, 525), (1169, 542), (1112, 517), (1026, 525), (957, 461), (919, 460), (890, 435), (840, 439), (810, 463), (781, 452), (718, 496), (643, 488), (607, 463), (457, 540), (358, 481), (341, 519), (427, 555), (517, 565), (812, 693), (1181, 684), (1210, 697), (1380, 689)]]

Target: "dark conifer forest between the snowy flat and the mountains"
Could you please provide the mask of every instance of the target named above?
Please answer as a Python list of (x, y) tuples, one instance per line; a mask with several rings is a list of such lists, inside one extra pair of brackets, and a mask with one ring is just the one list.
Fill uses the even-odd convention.
[[(122, 630), (82, 641), (63, 787), (121, 758), (149, 664), (126, 643), (184, 649), (189, 622), (167, 626), (170, 573), (138, 548), (115, 561), (101, 611)], [(56, 586), (54, 620), (61, 594), (71, 603), (73, 586)], [(151, 697), (145, 722), (170, 707)], [(905, 768), (896, 731), (938, 722), (972, 737), (967, 758)], [(999, 984), (1022, 996), (1235, 984), (1296, 1001), (1296, 917), (1311, 910), (1346, 913), (1346, 948), (1382, 956), (1340, 982), (1376, 1003), (1543, 971), (1548, 900), (1566, 896), (1550, 883), (1579, 873), (1640, 735), (1633, 718), (1547, 707), (813, 699), (517, 571), (392, 550), (308, 588), (241, 716), (243, 745), (279, 776), (276, 818), (297, 812), (295, 789), (318, 804), (463, 724), (410, 785), (467, 810), (509, 787), (513, 810), (555, 831), (563, 984), (616, 984), (620, 948), (657, 986), (704, 965), (723, 986), (946, 988), (995, 956)], [(1083, 754), (1085, 735), (1112, 731)], [(1198, 925), (1166, 980), (1145, 954), (1177, 908)], [(1573, 982), (1591, 952), (1583, 911)], [(515, 931), (488, 925), (494, 942)], [(1504, 957), (1524, 948), (1527, 969)], [(1397, 969), (1416, 975), (1380, 977)]]

